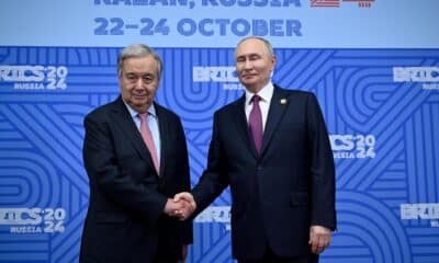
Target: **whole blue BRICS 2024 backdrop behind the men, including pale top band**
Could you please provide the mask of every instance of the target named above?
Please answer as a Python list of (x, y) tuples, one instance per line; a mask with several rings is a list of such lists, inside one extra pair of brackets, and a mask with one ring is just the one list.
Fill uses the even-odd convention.
[[(178, 113), (191, 181), (213, 112), (243, 94), (233, 52), (275, 47), (273, 82), (313, 91), (337, 170), (338, 231), (322, 262), (439, 262), (439, 2), (3, 0), (0, 262), (77, 262), (88, 207), (82, 118), (119, 94), (121, 47), (157, 48), (157, 100)], [(161, 21), (161, 22), (160, 22)], [(188, 262), (233, 262), (230, 196), (194, 222)]]

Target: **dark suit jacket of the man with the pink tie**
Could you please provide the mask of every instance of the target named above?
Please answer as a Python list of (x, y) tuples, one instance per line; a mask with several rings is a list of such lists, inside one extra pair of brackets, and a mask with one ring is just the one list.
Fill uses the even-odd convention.
[(155, 106), (161, 140), (159, 176), (121, 98), (85, 118), (90, 204), (80, 262), (147, 263), (159, 238), (176, 255), (181, 255), (183, 243), (192, 242), (192, 222), (162, 213), (168, 197), (190, 190), (184, 133), (176, 114)]

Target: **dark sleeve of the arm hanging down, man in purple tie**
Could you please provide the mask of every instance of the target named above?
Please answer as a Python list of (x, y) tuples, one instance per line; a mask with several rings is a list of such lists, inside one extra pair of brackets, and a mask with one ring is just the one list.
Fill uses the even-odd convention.
[(312, 222), (336, 229), (335, 165), (329, 137), (317, 99), (307, 100), (311, 147)]

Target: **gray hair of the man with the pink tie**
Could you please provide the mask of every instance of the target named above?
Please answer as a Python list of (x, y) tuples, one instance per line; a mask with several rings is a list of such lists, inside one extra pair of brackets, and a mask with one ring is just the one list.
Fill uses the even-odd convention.
[(151, 47), (144, 44), (134, 44), (122, 49), (117, 57), (117, 76), (122, 75), (122, 67), (125, 59), (140, 58), (146, 56), (153, 56), (153, 58), (156, 60), (158, 71), (157, 77), (160, 79), (164, 69), (164, 62), (161, 61), (160, 55), (158, 55), (158, 53)]

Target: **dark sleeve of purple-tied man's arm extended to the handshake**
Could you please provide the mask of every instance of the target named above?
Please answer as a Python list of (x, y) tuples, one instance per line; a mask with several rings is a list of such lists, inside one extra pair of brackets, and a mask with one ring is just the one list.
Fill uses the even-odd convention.
[[(228, 185), (227, 163), (222, 149), (218, 113), (214, 114), (213, 134), (207, 155), (207, 168), (192, 190), (196, 203), (195, 215), (204, 210)], [(226, 127), (226, 126), (223, 126)]]

